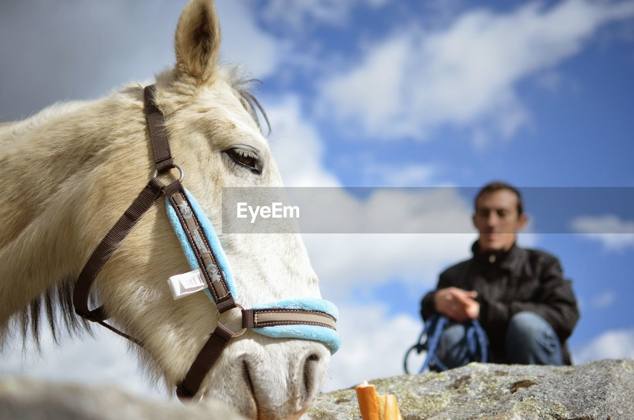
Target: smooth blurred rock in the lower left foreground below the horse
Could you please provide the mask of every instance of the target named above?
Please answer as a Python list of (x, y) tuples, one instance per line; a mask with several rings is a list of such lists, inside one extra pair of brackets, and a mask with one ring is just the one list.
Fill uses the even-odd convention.
[(134, 397), (113, 386), (0, 377), (2, 420), (244, 420), (221, 402), (183, 405)]

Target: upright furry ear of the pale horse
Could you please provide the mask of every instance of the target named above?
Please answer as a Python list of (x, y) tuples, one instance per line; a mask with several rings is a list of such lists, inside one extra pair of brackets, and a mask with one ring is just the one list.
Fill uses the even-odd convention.
[(220, 24), (212, 0), (191, 0), (176, 25), (176, 69), (201, 81), (214, 75), (220, 49)]

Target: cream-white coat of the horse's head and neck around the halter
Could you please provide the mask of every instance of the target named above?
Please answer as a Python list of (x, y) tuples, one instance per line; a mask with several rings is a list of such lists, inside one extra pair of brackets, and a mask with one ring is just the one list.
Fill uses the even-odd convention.
[[(219, 67), (220, 32), (211, 1), (192, 0), (176, 29), (176, 67), (157, 77), (172, 156), (214, 225), (223, 187), (281, 187), (252, 96)], [(93, 102), (54, 105), (0, 126), (0, 327), (29, 325), (41, 305), (55, 330), (56, 307), (70, 330), (72, 283), (86, 259), (153, 171), (143, 86)], [(318, 279), (298, 235), (219, 233), (240, 303), (319, 298)], [(110, 319), (144, 343), (141, 362), (169, 388), (183, 379), (214, 329), (217, 310), (202, 293), (174, 301), (171, 275), (189, 271), (162, 204), (139, 221), (95, 287)], [(223, 313), (231, 324), (235, 312)], [(330, 351), (317, 341), (247, 331), (207, 374), (197, 397), (217, 398), (249, 417), (301, 416), (317, 397)]]

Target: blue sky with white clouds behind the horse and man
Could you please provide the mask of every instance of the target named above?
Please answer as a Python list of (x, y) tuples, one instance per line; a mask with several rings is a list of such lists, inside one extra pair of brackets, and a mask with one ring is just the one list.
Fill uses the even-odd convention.
[[(185, 2), (139, 3), (6, 6), (0, 48), (13, 60), (0, 65), (0, 120), (96, 98), (172, 65)], [(262, 81), (257, 96), (286, 185), (634, 187), (632, 1), (226, 0), (217, 8), (223, 60)], [(342, 310), (344, 346), (325, 389), (400, 374), (420, 328), (420, 297), (440, 270), (469, 258), (470, 199), (434, 200), (444, 207), (407, 217), (451, 213), (469, 233), (305, 235), (321, 291)], [(391, 202), (407, 206), (407, 194)], [(548, 218), (526, 206), (535, 228)], [(634, 357), (631, 207), (577, 212), (569, 226), (579, 233), (533, 229), (520, 243), (557, 255), (574, 281), (582, 317), (573, 357)], [(72, 354), (79, 344), (68, 346)], [(102, 357), (110, 371), (128, 369)], [(67, 377), (37, 362), (24, 369)]]

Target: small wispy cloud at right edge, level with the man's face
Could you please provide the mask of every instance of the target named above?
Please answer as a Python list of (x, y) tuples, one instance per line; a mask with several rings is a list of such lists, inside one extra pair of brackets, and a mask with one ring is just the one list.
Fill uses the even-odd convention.
[(622, 220), (614, 214), (579, 216), (571, 222), (574, 232), (598, 240), (606, 251), (623, 251), (634, 247), (634, 221)]

